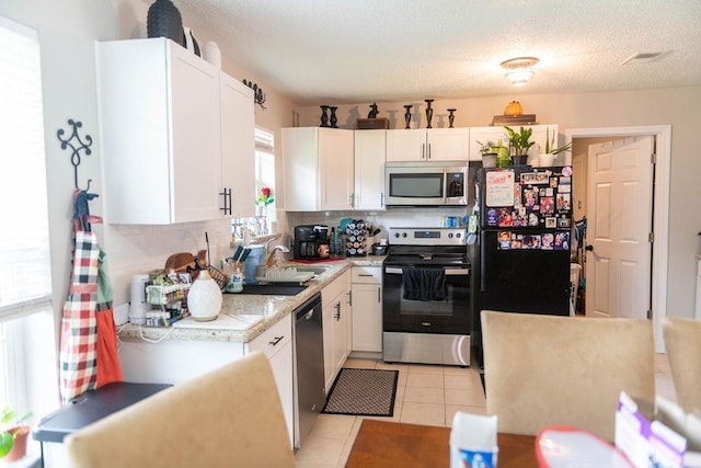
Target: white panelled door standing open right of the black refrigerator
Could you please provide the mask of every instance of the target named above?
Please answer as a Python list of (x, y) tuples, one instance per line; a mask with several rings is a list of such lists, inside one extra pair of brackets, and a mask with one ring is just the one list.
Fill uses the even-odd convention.
[(653, 152), (651, 136), (589, 146), (587, 317), (647, 317)]

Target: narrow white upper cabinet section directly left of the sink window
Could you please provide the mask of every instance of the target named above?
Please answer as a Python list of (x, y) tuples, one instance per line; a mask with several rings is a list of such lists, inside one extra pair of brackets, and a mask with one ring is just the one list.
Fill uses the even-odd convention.
[(221, 180), (231, 191), (230, 217), (255, 215), (255, 122), (253, 90), (221, 73)]

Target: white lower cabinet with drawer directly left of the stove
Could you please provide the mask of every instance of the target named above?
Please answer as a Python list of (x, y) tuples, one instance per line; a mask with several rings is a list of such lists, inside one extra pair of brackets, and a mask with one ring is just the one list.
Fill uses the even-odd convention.
[(382, 267), (352, 269), (353, 351), (382, 352)]

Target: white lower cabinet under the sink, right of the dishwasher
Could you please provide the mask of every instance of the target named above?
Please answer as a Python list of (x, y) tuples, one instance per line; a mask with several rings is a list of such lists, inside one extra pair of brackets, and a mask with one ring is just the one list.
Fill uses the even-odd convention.
[(324, 390), (331, 391), (350, 353), (350, 272), (346, 271), (321, 290), (324, 335)]

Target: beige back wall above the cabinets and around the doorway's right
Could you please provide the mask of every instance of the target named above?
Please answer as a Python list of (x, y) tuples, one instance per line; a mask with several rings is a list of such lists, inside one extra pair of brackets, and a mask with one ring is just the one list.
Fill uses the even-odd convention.
[[(525, 114), (537, 114), (541, 124), (559, 124), (560, 142), (567, 128), (671, 125), (671, 190), (669, 206), (669, 276), (667, 282), (667, 315), (693, 316), (696, 259), (701, 252), (701, 149), (698, 132), (701, 121), (701, 87), (588, 92), (564, 94), (522, 94), (510, 98), (440, 100), (433, 103), (434, 127), (448, 126), (447, 107), (457, 109), (455, 126), (490, 125), (506, 104), (520, 101)], [(378, 102), (379, 117), (389, 117), (392, 128), (404, 128), (404, 104), (412, 102)], [(425, 103), (421, 105), (420, 127), (425, 128)], [(319, 103), (326, 104), (326, 103)], [(340, 126), (353, 128), (356, 117), (366, 117), (369, 104), (342, 105)], [(412, 113), (415, 113), (414, 109)], [(319, 125), (318, 106), (300, 111), (300, 125)], [(441, 121), (443, 116), (443, 121)], [(415, 123), (414, 117), (412, 123)], [(443, 125), (441, 125), (443, 122)]]

